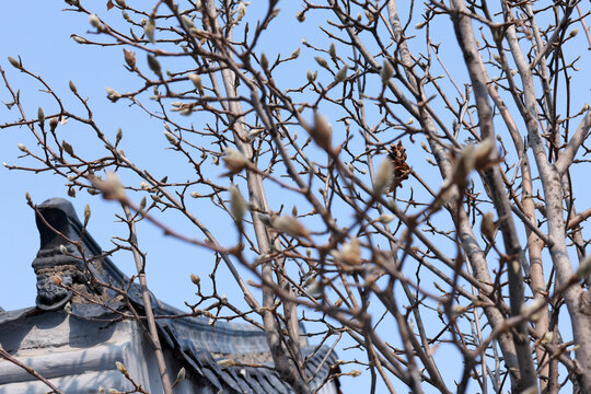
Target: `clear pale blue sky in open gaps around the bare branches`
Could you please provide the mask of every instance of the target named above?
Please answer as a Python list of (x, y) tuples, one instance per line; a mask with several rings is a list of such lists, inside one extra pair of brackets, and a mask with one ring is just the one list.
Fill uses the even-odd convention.
[[(95, 2), (92, 7), (103, 15), (107, 13), (104, 3), (106, 1)], [(162, 124), (150, 120), (136, 108), (127, 107), (123, 103), (113, 104), (105, 97), (105, 86), (125, 91), (137, 82), (124, 70), (120, 47), (100, 49), (76, 44), (70, 35), (72, 33), (84, 35), (90, 30), (88, 16), (62, 12), (63, 7), (63, 2), (45, 0), (5, 1), (2, 4), (0, 66), (8, 73), (12, 86), (21, 89), (21, 97), (27, 115), (35, 117), (39, 105), (44, 107), (46, 114), (54, 114), (56, 106), (47, 100), (46, 94), (38, 92), (38, 84), (31, 78), (23, 78), (24, 76), (9, 65), (7, 56), (15, 58), (19, 55), (22, 56), (23, 63), (31, 71), (42, 74), (51, 88), (65, 97), (71, 99), (68, 81), (72, 80), (81, 94), (90, 97), (90, 104), (95, 111), (99, 124), (111, 134), (111, 137), (115, 135), (117, 128), (123, 129), (121, 148), (129, 158), (147, 165), (157, 177), (166, 174), (182, 177), (182, 174), (175, 173), (178, 169), (176, 164), (183, 164), (182, 160), (163, 149), (165, 140), (162, 136)], [(264, 42), (264, 45), (269, 48), (268, 53), (289, 55), (301, 46), (301, 39), (304, 37), (324, 39), (318, 32), (298, 30), (300, 25), (294, 18), (296, 12), (299, 11), (298, 1), (280, 1), (280, 8), (290, 16), (282, 20), (279, 34), (271, 35)], [(450, 32), (451, 30), (448, 30), (447, 34), (455, 43), (455, 37), (451, 36)], [(139, 56), (138, 61), (140, 61)], [(141, 61), (143, 61), (143, 56), (141, 56)], [(452, 71), (463, 73), (463, 63), (459, 61), (452, 65)], [(304, 78), (304, 76), (305, 70), (301, 70), (300, 77)], [(580, 95), (578, 102), (583, 103), (589, 101), (589, 82), (580, 81), (580, 89), (575, 94)], [(0, 100), (9, 101), (3, 85), (0, 86)], [(14, 111), (9, 112), (4, 105), (0, 105), (1, 124), (15, 119)], [(89, 130), (65, 127), (69, 127), (66, 129), (66, 139), (76, 143), (77, 150), (88, 152), (94, 149), (95, 140), (92, 139)], [(37, 164), (31, 160), (18, 159), (21, 154), (16, 148), (18, 143), (34, 147), (27, 129), (0, 130), (0, 162), (36, 166)], [(25, 204), (25, 192), (30, 192), (37, 204), (50, 197), (68, 198), (63, 184), (65, 179), (50, 173), (34, 174), (0, 167), (0, 220), (2, 223), (0, 225), (0, 251), (2, 251), (0, 253), (0, 278), (2, 278), (0, 306), (4, 310), (32, 306), (36, 296), (35, 275), (31, 263), (38, 250), (39, 241), (33, 211)], [(139, 186), (139, 181), (136, 186)], [(576, 195), (589, 194), (588, 182), (577, 184), (575, 187)], [(112, 236), (125, 236), (125, 227), (115, 222), (114, 213), (120, 213), (120, 209), (115, 204), (104, 201), (100, 197), (92, 197), (85, 192), (79, 193), (72, 202), (79, 215), (82, 215), (85, 204), (91, 206), (93, 215), (89, 229), (104, 248), (111, 247)], [(290, 205), (288, 207), (291, 208)], [(233, 224), (229, 220), (220, 219), (216, 212), (209, 211), (206, 207), (201, 209), (195, 206), (194, 208), (204, 222), (216, 225), (218, 229), (221, 228), (218, 234), (224, 233), (224, 229), (228, 228), (225, 232), (228, 237), (221, 236), (221, 241), (229, 243), (235, 241)], [(166, 220), (172, 227), (179, 225), (179, 229), (184, 231), (194, 231), (182, 224), (179, 218), (175, 216), (167, 216)], [(138, 232), (139, 244), (148, 252), (149, 288), (158, 298), (177, 308), (183, 308), (185, 301), (194, 302), (194, 286), (189, 280), (189, 275), (193, 273), (201, 278), (207, 277), (209, 267), (213, 263), (211, 254), (167, 239), (160, 230), (148, 223), (140, 223)], [(195, 232), (189, 235), (202, 236)], [(128, 275), (134, 274), (131, 255), (126, 258), (125, 254), (119, 253), (114, 260)], [(225, 269), (221, 269), (219, 279), (222, 287), (228, 287), (229, 299), (234, 297), (236, 303), (240, 303), (237, 299), (242, 297), (236, 292), (233, 279)], [(444, 368), (450, 369), (453, 378), (454, 371), (459, 373), (461, 367), (451, 363)], [(346, 393), (364, 392), (369, 387), (368, 373), (359, 379), (345, 378), (341, 381), (346, 385)]]

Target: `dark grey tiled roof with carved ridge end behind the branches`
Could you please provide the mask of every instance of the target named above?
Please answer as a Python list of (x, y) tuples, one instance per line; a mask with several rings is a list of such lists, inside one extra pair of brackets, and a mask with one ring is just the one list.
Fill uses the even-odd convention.
[[(72, 205), (60, 198), (49, 199), (37, 207), (37, 228), (42, 246), (33, 268), (37, 274), (37, 308), (43, 311), (61, 310), (67, 304), (71, 313), (82, 317), (97, 317), (109, 313), (107, 309), (89, 299), (108, 304), (116, 310), (125, 309), (125, 303), (113, 290), (100, 286), (100, 282), (114, 286), (127, 286), (129, 279), (115, 266), (107, 256), (103, 256), (101, 247), (88, 233), (78, 219)], [(68, 239), (78, 241), (83, 236), (83, 251), (89, 264), (88, 274), (79, 251), (68, 244), (62, 236), (56, 235), (47, 224)], [(67, 254), (63, 254), (63, 247)], [(74, 257), (72, 257), (74, 256)], [(96, 260), (96, 256), (102, 256)], [(58, 275), (69, 287), (84, 293), (80, 298), (71, 291), (54, 283), (53, 276)], [(99, 280), (95, 280), (99, 279)], [(150, 293), (151, 294), (151, 293)], [(154, 313), (159, 315), (177, 315), (182, 311), (159, 301), (151, 294)], [(129, 300), (135, 308), (143, 309), (140, 288), (136, 283), (129, 286)], [(14, 317), (14, 316), (12, 316)], [(0, 314), (2, 320), (11, 320), (10, 313)], [(157, 325), (163, 345), (183, 360), (188, 370), (209, 385), (222, 392), (237, 393), (291, 393), (289, 385), (279, 379), (273, 369), (273, 360), (265, 333), (255, 326), (229, 322), (208, 324), (206, 317), (159, 318)], [(304, 344), (305, 340), (304, 340)], [(335, 366), (336, 355), (326, 347), (303, 346), (302, 352), (308, 358), (306, 375), (313, 376), (311, 387), (317, 387)], [(322, 364), (322, 366), (321, 366)], [(260, 366), (260, 367), (256, 367)], [(320, 368), (318, 368), (320, 367)], [(338, 385), (338, 381), (336, 381)]]

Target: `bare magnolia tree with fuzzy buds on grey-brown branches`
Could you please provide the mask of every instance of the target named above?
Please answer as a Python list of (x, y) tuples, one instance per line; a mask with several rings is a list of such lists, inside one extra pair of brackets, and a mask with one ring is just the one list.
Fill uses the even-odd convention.
[[(120, 204), (130, 235), (108, 253), (138, 251), (138, 221), (206, 248), (212, 280), (224, 264), (245, 303), (215, 287), (192, 314), (264, 329), (294, 392), (314, 391), (303, 322), (339, 352), (340, 379), (367, 371), (372, 393), (591, 393), (591, 208), (573, 195), (591, 112), (572, 89), (588, 93), (589, 4), (304, 0), (287, 14), (277, 0), (66, 2), (91, 25), (77, 43), (123, 49), (137, 89), (107, 99), (140, 108), (186, 167), (152, 176), (162, 163), (119, 148), (149, 130), (104, 130), (74, 82), (58, 95), (26, 54), (2, 70), (14, 119), (1, 127), (36, 146), (8, 166)], [(260, 44), (303, 32), (293, 53)], [(14, 69), (54, 104), (26, 113)], [(71, 127), (94, 151), (65, 140)], [(228, 215), (239, 241), (205, 225), (195, 200)]]

